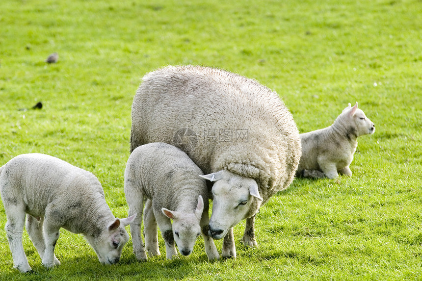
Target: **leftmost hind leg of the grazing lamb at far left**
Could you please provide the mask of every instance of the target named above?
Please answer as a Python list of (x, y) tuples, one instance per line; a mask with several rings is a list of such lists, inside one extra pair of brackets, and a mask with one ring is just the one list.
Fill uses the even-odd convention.
[(28, 272), (31, 270), (31, 267), (26, 258), (22, 243), (26, 216), (25, 206), (7, 204), (7, 199), (5, 198), (3, 198), (3, 204), (7, 216), (5, 230), (10, 252), (12, 252), (13, 267), (21, 272)]

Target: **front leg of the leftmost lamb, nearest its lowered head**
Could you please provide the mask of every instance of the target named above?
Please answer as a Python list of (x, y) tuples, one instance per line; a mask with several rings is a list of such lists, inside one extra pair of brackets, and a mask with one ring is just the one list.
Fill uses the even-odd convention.
[[(46, 210), (46, 217), (49, 217)], [(45, 268), (51, 268), (56, 265), (56, 257), (54, 255), (55, 244), (57, 243), (58, 237), (60, 236), (60, 227), (57, 226), (52, 220), (44, 219), (43, 223), (43, 236), (45, 251), (42, 257), (42, 263)], [(57, 259), (58, 261), (58, 259)], [(60, 264), (60, 262), (58, 262)]]

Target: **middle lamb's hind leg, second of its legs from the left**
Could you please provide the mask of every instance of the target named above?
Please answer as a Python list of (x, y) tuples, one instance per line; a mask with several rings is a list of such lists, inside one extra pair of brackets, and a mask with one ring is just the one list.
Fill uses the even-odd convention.
[(145, 249), (149, 256), (160, 255), (158, 249), (157, 221), (154, 216), (152, 201), (147, 200), (144, 207)]

